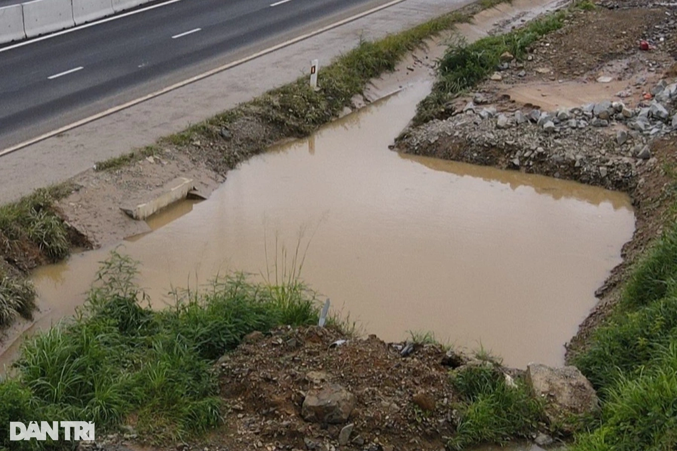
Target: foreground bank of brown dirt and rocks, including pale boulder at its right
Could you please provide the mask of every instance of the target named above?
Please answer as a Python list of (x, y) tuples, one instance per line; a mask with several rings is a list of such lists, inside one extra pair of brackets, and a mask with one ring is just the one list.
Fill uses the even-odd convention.
[[(153, 451), (450, 449), (468, 429), (469, 394), (452, 383), (464, 372), (543, 400), (540, 418), (524, 431), (534, 451), (565, 437), (569, 419), (598, 410), (592, 385), (573, 366), (517, 370), (436, 343), (385, 343), (316, 326), (252, 332), (213, 372), (228, 407), (223, 430)], [(79, 451), (129, 451), (135, 439), (125, 427)]]

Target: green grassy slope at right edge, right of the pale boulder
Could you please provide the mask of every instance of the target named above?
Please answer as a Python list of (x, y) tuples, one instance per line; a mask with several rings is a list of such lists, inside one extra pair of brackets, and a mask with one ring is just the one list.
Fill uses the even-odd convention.
[(611, 318), (573, 358), (598, 389), (602, 418), (575, 450), (677, 448), (677, 224), (633, 267)]

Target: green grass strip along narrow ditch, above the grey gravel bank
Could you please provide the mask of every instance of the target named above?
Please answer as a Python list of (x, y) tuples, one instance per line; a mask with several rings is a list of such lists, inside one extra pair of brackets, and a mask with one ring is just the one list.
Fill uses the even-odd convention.
[(471, 44), (452, 44), (439, 62), (438, 79), (431, 94), (416, 109), (414, 124), (443, 119), (449, 114), (445, 104), (496, 71), (504, 52), (520, 60), (530, 45), (561, 28), (566, 15), (564, 11), (556, 12), (505, 35), (485, 37)]

